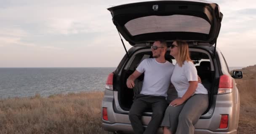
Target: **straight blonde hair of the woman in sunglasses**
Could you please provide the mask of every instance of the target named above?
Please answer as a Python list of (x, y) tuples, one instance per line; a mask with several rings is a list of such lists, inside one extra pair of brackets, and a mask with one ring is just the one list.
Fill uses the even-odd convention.
[(176, 40), (175, 42), (179, 46), (179, 58), (176, 59), (179, 66), (182, 67), (185, 61), (192, 62), (189, 56), (189, 45), (187, 42), (181, 40)]

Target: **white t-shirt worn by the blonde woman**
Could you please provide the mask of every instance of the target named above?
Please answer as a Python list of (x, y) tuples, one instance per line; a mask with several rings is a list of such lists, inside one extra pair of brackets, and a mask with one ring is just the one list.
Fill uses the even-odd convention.
[[(177, 90), (178, 97), (182, 97), (189, 88), (189, 81), (197, 81), (197, 70), (192, 62), (185, 61), (182, 67), (178, 63), (175, 64), (171, 83)], [(206, 88), (198, 83), (195, 94), (208, 94)]]

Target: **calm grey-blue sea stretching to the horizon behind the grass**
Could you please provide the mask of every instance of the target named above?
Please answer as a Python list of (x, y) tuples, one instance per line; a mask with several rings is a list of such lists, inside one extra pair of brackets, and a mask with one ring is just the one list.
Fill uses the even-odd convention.
[[(229, 70), (243, 67), (229, 67)], [(0, 99), (104, 91), (116, 67), (0, 68)]]

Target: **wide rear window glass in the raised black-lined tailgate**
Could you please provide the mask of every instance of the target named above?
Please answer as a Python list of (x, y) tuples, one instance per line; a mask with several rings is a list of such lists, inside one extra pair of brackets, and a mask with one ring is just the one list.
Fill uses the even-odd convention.
[(194, 32), (209, 34), (211, 25), (200, 17), (189, 15), (146, 16), (125, 23), (132, 36), (157, 32)]

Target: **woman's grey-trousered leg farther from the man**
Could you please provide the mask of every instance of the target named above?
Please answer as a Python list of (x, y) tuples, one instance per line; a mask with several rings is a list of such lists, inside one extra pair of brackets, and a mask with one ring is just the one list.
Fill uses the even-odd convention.
[(194, 125), (207, 108), (207, 94), (195, 94), (190, 97), (179, 114), (176, 134), (194, 134)]

